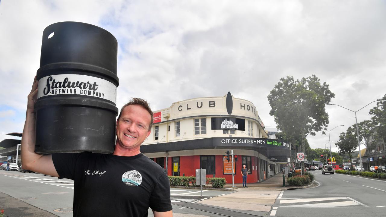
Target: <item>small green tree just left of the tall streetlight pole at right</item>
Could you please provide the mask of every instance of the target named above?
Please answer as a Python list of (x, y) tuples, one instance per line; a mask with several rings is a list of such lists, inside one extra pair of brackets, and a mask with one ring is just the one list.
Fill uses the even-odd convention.
[(352, 127), (349, 127), (347, 132), (340, 133), (339, 141), (335, 143), (335, 146), (339, 148), (339, 153), (349, 154), (352, 167), (352, 153), (358, 147), (357, 137), (356, 134), (353, 133)]

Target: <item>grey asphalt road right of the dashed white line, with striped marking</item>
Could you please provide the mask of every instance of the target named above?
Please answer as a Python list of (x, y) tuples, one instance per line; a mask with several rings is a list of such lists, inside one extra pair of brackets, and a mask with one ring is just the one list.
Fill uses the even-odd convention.
[(386, 181), (338, 173), (322, 175), (320, 170), (310, 172), (320, 185), (284, 191), (274, 203), (271, 216), (385, 215)]

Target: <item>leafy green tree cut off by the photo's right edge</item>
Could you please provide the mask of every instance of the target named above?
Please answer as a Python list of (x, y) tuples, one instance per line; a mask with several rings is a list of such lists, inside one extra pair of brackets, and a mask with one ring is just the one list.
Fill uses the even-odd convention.
[(378, 100), (376, 107), (372, 108), (369, 114), (374, 115), (371, 120), (376, 126), (378, 139), (386, 142), (386, 94)]

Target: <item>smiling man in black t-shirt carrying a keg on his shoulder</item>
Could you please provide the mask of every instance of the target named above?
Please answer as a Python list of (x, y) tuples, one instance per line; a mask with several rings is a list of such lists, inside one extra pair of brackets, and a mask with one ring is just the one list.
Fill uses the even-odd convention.
[(139, 151), (153, 120), (146, 100), (133, 98), (122, 107), (113, 154), (40, 155), (34, 152), (36, 97), (35, 77), (21, 142), (23, 167), (74, 180), (73, 216), (147, 216), (149, 207), (155, 217), (173, 216), (166, 171)]

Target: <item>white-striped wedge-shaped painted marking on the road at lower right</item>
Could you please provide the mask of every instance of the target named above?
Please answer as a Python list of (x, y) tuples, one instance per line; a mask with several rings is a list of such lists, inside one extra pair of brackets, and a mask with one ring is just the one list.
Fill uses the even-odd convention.
[[(334, 202), (327, 202), (332, 201)], [(311, 202), (311, 203), (310, 203)], [(313, 203), (312, 203), (313, 202)], [(279, 207), (289, 208), (310, 208), (310, 207), (368, 207), (361, 202), (358, 202), (350, 197), (323, 197), (323, 198), (285, 198), (281, 199)], [(290, 205), (289, 205), (290, 204)]]

